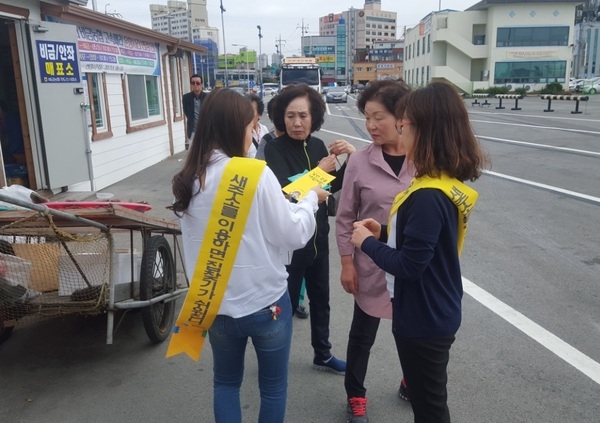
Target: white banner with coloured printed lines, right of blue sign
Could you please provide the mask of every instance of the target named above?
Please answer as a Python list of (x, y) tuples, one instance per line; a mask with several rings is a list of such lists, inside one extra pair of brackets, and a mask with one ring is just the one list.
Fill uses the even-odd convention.
[(157, 43), (85, 26), (77, 39), (82, 72), (160, 75)]

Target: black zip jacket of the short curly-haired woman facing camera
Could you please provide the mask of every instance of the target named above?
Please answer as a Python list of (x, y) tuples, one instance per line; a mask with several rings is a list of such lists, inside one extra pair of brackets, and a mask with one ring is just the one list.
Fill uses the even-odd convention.
[[(288, 179), (290, 176), (305, 170), (312, 170), (317, 166), (319, 160), (328, 155), (325, 143), (313, 136), (309, 136), (302, 142), (284, 134), (265, 145), (265, 161), (282, 188), (291, 182)], [(335, 176), (331, 182), (331, 192), (342, 188), (345, 170), (346, 164), (331, 173)], [(325, 202), (319, 204), (316, 218), (316, 233), (303, 248), (294, 251), (292, 266), (308, 266), (317, 256), (329, 254), (329, 218)]]

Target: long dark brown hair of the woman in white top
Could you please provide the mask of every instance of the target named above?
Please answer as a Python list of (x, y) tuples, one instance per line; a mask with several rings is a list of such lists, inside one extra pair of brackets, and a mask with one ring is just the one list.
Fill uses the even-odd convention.
[(183, 169), (173, 177), (175, 201), (170, 208), (176, 214), (187, 210), (198, 194), (194, 182), (197, 178), (202, 181), (213, 150), (220, 149), (229, 157), (244, 156), (246, 127), (253, 118), (250, 100), (235, 91), (214, 89), (206, 96)]

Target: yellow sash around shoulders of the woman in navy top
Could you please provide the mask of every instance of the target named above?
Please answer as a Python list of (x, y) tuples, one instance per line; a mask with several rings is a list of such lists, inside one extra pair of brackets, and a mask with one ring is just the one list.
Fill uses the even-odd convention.
[(442, 191), (448, 196), (450, 200), (456, 205), (458, 209), (458, 255), (460, 255), (465, 241), (465, 235), (467, 234), (467, 225), (469, 222), (469, 214), (479, 194), (473, 188), (463, 184), (458, 179), (451, 178), (446, 172), (442, 172), (439, 178), (432, 178), (430, 176), (421, 176), (414, 178), (408, 188), (402, 191), (394, 198), (392, 203), (392, 210), (390, 211), (390, 218), (388, 221), (388, 236), (389, 230), (392, 223), (392, 216), (398, 211), (398, 208), (404, 203), (410, 194), (421, 189), (421, 188), (436, 188)]

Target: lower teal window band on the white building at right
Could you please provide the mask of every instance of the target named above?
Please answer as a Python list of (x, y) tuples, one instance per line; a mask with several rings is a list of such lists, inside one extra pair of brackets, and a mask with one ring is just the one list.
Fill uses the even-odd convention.
[(548, 84), (565, 82), (567, 62), (496, 62), (494, 84)]

